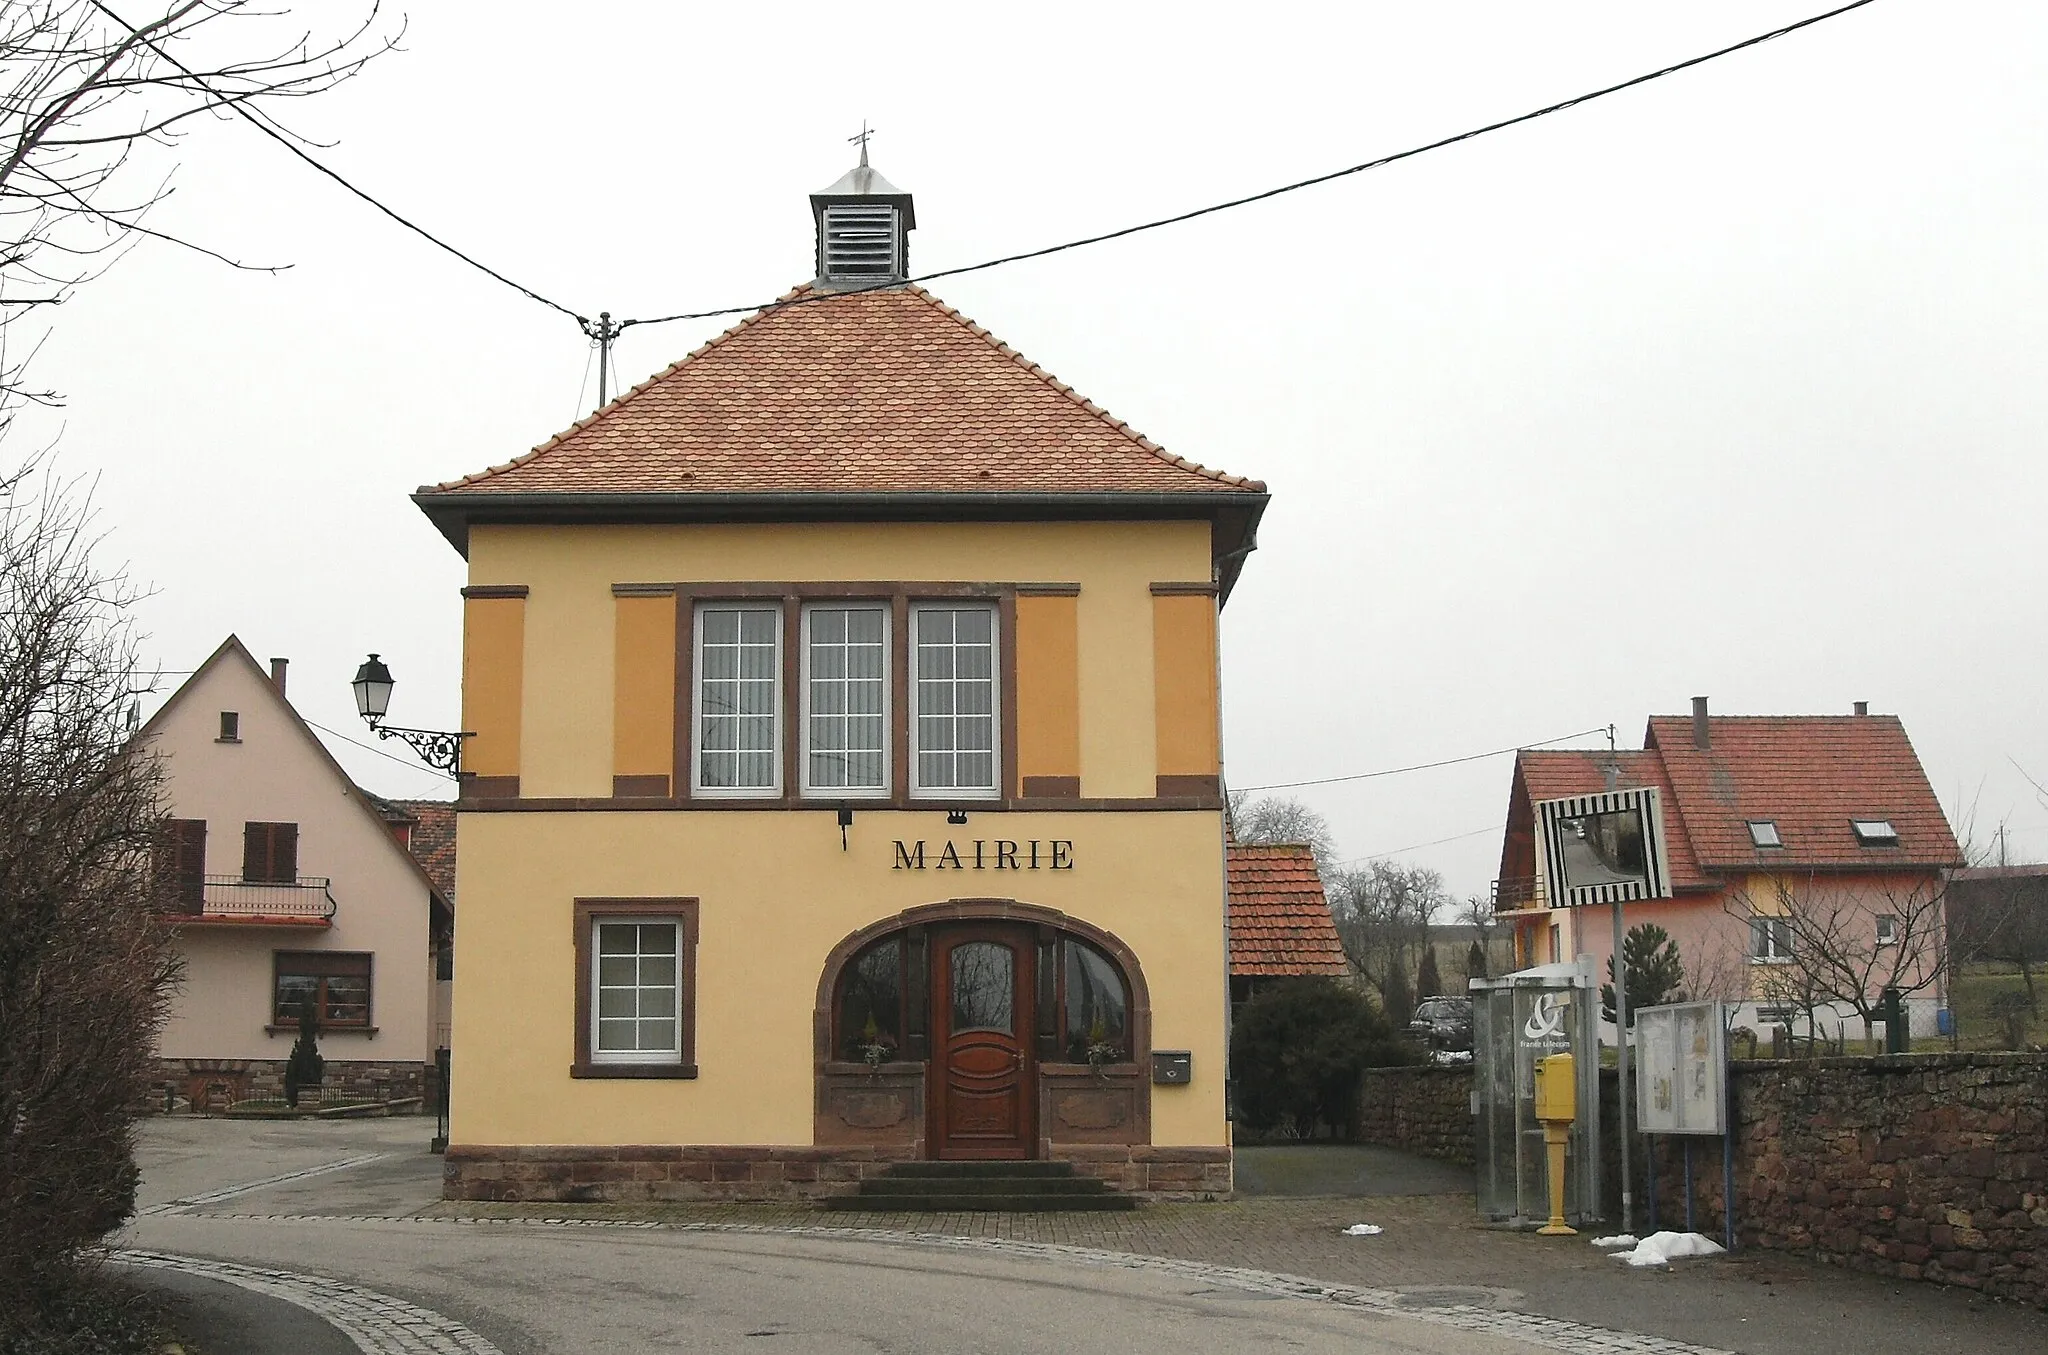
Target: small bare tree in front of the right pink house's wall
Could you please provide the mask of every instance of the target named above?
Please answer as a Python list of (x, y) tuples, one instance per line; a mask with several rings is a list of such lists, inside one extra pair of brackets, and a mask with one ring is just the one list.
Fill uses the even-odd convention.
[(1808, 876), (1774, 878), (1763, 899), (1735, 890), (1726, 911), (1751, 929), (1755, 997), (1804, 1011), (1808, 1030), (1823, 1007), (1847, 1007), (1862, 1017), (1868, 1042), (1886, 989), (1911, 997), (1948, 974), (1944, 903), (1939, 880), (1855, 884)]

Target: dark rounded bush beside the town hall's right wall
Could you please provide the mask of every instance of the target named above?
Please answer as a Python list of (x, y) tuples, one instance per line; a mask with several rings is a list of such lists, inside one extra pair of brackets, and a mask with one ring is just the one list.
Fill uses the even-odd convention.
[(1298, 1138), (1317, 1122), (1350, 1138), (1358, 1120), (1358, 1075), (1415, 1062), (1417, 1054), (1358, 989), (1335, 978), (1290, 978), (1243, 1005), (1231, 1030), (1237, 1120), (1257, 1132), (1288, 1126)]

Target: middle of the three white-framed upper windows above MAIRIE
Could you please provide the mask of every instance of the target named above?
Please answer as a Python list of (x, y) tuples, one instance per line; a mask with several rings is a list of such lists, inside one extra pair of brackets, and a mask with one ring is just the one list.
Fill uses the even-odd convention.
[(889, 794), (889, 608), (803, 610), (803, 790)]

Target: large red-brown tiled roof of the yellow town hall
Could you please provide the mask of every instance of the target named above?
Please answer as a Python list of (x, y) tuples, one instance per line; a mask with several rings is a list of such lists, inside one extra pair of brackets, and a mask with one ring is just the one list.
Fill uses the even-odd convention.
[[(815, 299), (813, 299), (815, 297)], [(1264, 493), (1182, 461), (922, 287), (799, 287), (535, 450), (420, 489)]]

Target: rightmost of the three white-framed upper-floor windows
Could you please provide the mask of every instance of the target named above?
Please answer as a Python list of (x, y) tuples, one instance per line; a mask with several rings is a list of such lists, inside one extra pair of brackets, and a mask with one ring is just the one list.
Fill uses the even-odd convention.
[(993, 796), (997, 788), (995, 608), (911, 610), (911, 792)]

